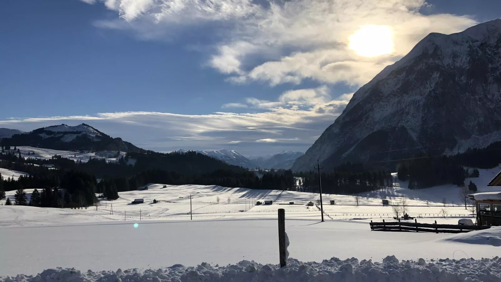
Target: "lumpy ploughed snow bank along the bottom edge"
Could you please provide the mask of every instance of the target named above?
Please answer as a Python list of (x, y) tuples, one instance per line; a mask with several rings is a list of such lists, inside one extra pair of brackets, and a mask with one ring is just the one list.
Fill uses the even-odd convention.
[(80, 282), (80, 281), (338, 281), (338, 282), (373, 282), (373, 281), (482, 281), (498, 282), (501, 279), (501, 258), (484, 258), (481, 260), (440, 259), (426, 261), (420, 258), (417, 261), (399, 261), (395, 256), (386, 257), (383, 262), (371, 260), (358, 261), (356, 258), (340, 260), (331, 258), (318, 262), (301, 262), (290, 258), (288, 265), (278, 268), (277, 265), (259, 264), (254, 261), (243, 260), (237, 264), (218, 267), (206, 262), (193, 267), (175, 264), (170, 267), (139, 271), (138, 269), (94, 272), (88, 270), (82, 273), (76, 269), (46, 269), (36, 276), (17, 275), (16, 277), (0, 276), (0, 281), (29, 281), (29, 282)]

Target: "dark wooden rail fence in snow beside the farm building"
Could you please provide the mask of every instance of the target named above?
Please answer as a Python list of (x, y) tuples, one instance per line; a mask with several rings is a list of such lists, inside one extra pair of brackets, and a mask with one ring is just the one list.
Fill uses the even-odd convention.
[(434, 232), (434, 233), (463, 233), (473, 230), (488, 229), (488, 226), (429, 224), (417, 222), (370, 222), (371, 230), (375, 231), (403, 231), (403, 232)]

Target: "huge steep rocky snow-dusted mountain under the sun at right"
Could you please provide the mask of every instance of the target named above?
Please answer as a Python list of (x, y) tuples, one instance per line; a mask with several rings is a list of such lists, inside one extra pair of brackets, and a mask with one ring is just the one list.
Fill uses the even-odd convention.
[(501, 20), (429, 34), (361, 87), (293, 170), (317, 159), (377, 162), (501, 140), (500, 65)]

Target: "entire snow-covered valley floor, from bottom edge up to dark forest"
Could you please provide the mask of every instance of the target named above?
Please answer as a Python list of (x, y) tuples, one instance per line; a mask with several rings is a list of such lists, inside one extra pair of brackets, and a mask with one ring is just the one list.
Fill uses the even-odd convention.
[[(480, 170), (480, 177), (472, 179), (478, 192), (496, 190), (487, 188), (486, 183), (498, 169)], [(32, 191), (26, 192), (30, 195)], [(14, 198), (14, 193), (9, 191), (7, 195)], [(320, 212), (316, 206), (305, 205), (318, 199), (318, 194), (311, 193), (151, 184), (148, 190), (121, 192), (119, 195), (118, 200), (102, 202), (97, 210), (95, 207), (72, 210), (0, 206), (0, 249), (3, 254), (0, 256), (0, 275), (34, 275), (61, 266), (82, 271), (106, 271), (78, 274), (78, 271), (56, 269), (47, 270), (45, 274), (62, 281), (76, 278), (75, 275), (81, 275), (78, 279), (85, 276), (91, 281), (116, 281), (117, 277), (135, 281), (152, 277), (167, 281), (306, 279), (316, 282), (336, 278), (366, 281), (367, 277), (372, 277), (367, 273), (379, 275), (377, 277), (382, 281), (460, 281), (465, 277), (479, 281), (501, 279), (497, 264), (501, 261), (490, 259), (499, 255), (501, 229), (458, 235), (370, 230), (367, 221), (371, 219), (393, 220), (391, 207), (381, 204), (383, 198), (390, 201), (408, 199), (408, 213), (417, 216), (418, 222), (436, 220), (438, 223), (457, 224), (457, 220), (467, 217), (469, 211), (461, 206), (459, 188), (455, 186), (408, 190), (406, 183), (398, 183), (393, 189), (361, 194), (360, 206), (356, 206), (354, 195), (324, 194), (324, 223), (319, 222)], [(144, 204), (131, 204), (138, 198), (143, 198)], [(443, 198), (447, 199), (446, 207), (441, 203)], [(153, 204), (153, 200), (158, 203)], [(256, 206), (258, 200), (273, 200), (274, 204)], [(330, 200), (335, 200), (336, 205), (329, 205)], [(289, 205), (289, 202), (295, 204)], [(279, 208), (286, 210), (286, 230), (291, 243), (289, 252), (294, 258), (289, 260), (291, 266), (288, 270), (259, 264), (278, 262), (276, 218)], [(446, 218), (440, 214), (442, 209), (446, 210)], [(193, 220), (189, 220), (191, 216)], [(414, 261), (398, 262), (392, 257), (385, 258), (388, 255)], [(342, 260), (298, 261), (322, 261), (333, 256)], [(473, 260), (482, 257), (489, 259)], [(431, 261), (439, 258), (450, 259)], [(372, 262), (362, 259), (372, 259)], [(259, 263), (236, 263), (242, 260)], [(196, 268), (166, 268), (178, 263), (196, 265), (203, 261), (211, 265), (233, 265), (211, 267), (202, 263)], [(379, 263), (382, 261), (384, 263)], [(144, 270), (161, 267), (154, 272)], [(253, 267), (256, 272), (253, 272)], [(118, 268), (139, 270), (110, 271)], [(393, 278), (388, 278), (388, 273)], [(136, 278), (130, 275), (136, 275)], [(29, 277), (18, 276), (13, 280)], [(12, 281), (9, 279), (0, 277), (0, 280)], [(46, 281), (46, 277), (35, 280)]]

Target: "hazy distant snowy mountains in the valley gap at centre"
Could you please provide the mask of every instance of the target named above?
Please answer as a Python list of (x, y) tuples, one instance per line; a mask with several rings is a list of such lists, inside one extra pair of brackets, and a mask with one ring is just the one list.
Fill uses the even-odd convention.
[[(186, 153), (187, 150), (180, 149), (178, 153)], [(283, 151), (278, 154), (267, 156), (249, 156), (245, 157), (236, 151), (231, 150), (198, 150), (197, 153), (222, 160), (230, 165), (241, 166), (244, 168), (255, 169), (290, 169), (294, 161), (303, 156), (302, 152)]]

